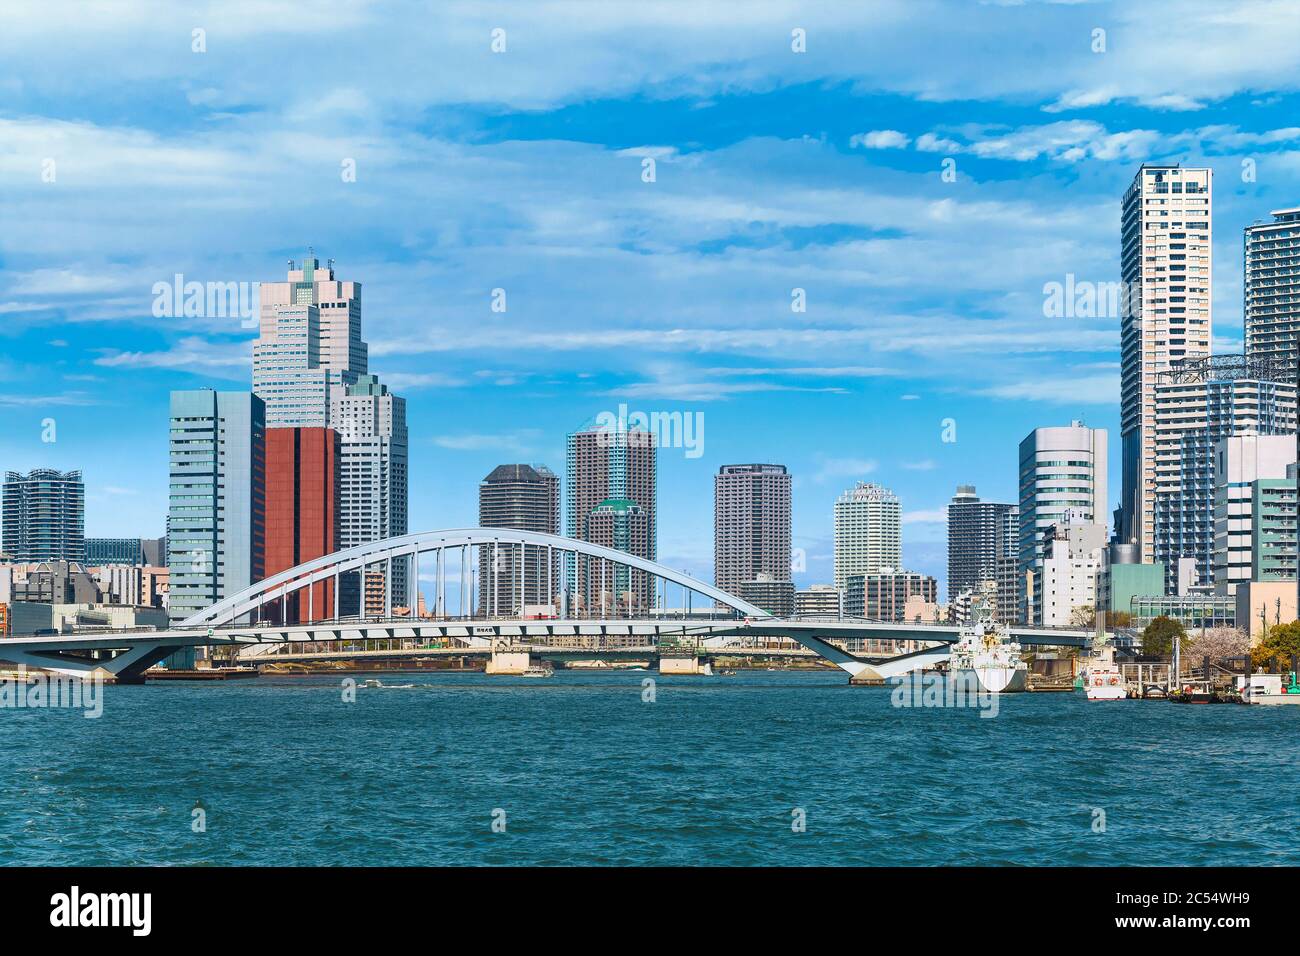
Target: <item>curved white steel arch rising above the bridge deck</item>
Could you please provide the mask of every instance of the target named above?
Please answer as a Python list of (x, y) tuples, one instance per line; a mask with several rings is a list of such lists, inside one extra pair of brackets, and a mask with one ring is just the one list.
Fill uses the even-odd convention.
[[(322, 558), (315, 558), (313, 561), (291, 567), (287, 571), (281, 571), (265, 578), (264, 580), (260, 580), (256, 584), (218, 601), (211, 607), (190, 615), (185, 620), (179, 622), (179, 627), (221, 627), (233, 624), (246, 615), (252, 615), (255, 613), (260, 614), (263, 607), (274, 605), (277, 601), (283, 601), (290, 594), (295, 594), (304, 588), (308, 588), (308, 593), (313, 594), (315, 589), (312, 585), (328, 580), (334, 581), (333, 593), (337, 605), (339, 576), (355, 571), (364, 571), (377, 563), (385, 563), (390, 570), (390, 572), (385, 575), (385, 587), (387, 589), (386, 600), (391, 601), (393, 562), (411, 562), (415, 568), (413, 578), (416, 579), (416, 587), (419, 587), (420, 558), (425, 554), (434, 554), (437, 559), (437, 596), (434, 609), (436, 614), (441, 614), (445, 611), (446, 606), (445, 580), (447, 551), (464, 549), (462, 553), (462, 568), (464, 568), (467, 567), (467, 557), (469, 555), (471, 549), (495, 549), (503, 545), (517, 546), (520, 549), (547, 549), (547, 568), (554, 564), (554, 555), (559, 555), (562, 558), (564, 555), (575, 555), (575, 561), (578, 557), (603, 561), (614, 566), (623, 566), (640, 571), (650, 579), (676, 584), (688, 592), (701, 594), (702, 597), (710, 598), (711, 601), (731, 609), (737, 615), (745, 618), (771, 617), (771, 614), (762, 607), (744, 601), (734, 594), (729, 594), (720, 588), (706, 584), (705, 581), (697, 580), (681, 571), (675, 571), (673, 568), (656, 562), (640, 558), (634, 554), (628, 554), (627, 551), (604, 548), (588, 541), (577, 541), (559, 535), (546, 535), (534, 531), (517, 531), (514, 528), (456, 528), (451, 531), (428, 531), (415, 535), (403, 535), (400, 537), (348, 548), (342, 551), (326, 554)], [(521, 553), (526, 554), (526, 550)], [(463, 593), (467, 593), (467, 583), (463, 576), (460, 585)], [(551, 594), (556, 593), (551, 584), (549, 584), (547, 591)]]

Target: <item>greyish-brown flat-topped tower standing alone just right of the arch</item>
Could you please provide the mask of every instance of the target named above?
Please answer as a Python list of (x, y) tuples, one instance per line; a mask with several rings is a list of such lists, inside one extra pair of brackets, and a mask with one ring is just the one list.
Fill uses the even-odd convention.
[(714, 583), (790, 580), (790, 475), (784, 464), (724, 464), (714, 476)]

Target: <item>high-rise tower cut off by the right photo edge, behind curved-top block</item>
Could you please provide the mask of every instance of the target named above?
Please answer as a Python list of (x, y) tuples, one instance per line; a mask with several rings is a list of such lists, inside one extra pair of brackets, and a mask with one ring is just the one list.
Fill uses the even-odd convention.
[(1245, 358), (1295, 368), (1300, 337), (1300, 207), (1245, 228)]

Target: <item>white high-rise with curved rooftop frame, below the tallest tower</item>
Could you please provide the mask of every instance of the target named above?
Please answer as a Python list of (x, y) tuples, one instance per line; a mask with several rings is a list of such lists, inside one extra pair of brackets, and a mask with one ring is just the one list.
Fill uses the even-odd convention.
[(1295, 371), (1242, 355), (1192, 359), (1162, 372), (1154, 394), (1153, 553), (1174, 593), (1180, 559), (1195, 563), (1196, 584), (1214, 581), (1218, 444), (1238, 434), (1292, 434)]

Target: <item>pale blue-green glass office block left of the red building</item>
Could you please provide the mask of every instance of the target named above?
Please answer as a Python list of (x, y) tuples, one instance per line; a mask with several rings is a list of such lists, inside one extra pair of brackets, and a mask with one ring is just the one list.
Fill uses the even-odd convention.
[(187, 618), (264, 576), (265, 406), (247, 392), (172, 393), (168, 613)]

